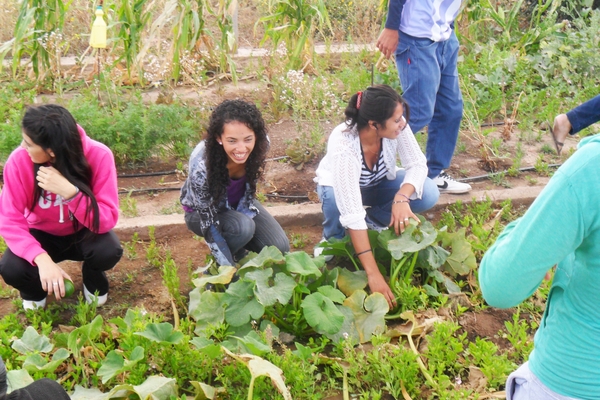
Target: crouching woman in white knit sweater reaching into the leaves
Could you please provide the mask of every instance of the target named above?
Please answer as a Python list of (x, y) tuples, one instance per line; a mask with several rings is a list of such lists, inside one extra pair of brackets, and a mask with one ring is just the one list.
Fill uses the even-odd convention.
[[(323, 209), (323, 239), (341, 239), (346, 230), (369, 282), (390, 307), (394, 294), (377, 268), (367, 228), (392, 227), (401, 234), (415, 212), (435, 205), (436, 184), (427, 178), (427, 162), (406, 123), (408, 104), (394, 89), (375, 85), (354, 94), (327, 142), (315, 182)], [(397, 161), (404, 169), (398, 169)], [(315, 257), (323, 247), (315, 248)]]

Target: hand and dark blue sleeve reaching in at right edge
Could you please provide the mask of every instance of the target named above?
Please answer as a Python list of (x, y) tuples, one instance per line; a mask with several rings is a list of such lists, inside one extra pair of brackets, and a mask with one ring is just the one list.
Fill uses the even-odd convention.
[(600, 95), (575, 107), (566, 114), (559, 114), (554, 118), (552, 138), (556, 146), (556, 153), (560, 155), (567, 135), (577, 132), (600, 121)]

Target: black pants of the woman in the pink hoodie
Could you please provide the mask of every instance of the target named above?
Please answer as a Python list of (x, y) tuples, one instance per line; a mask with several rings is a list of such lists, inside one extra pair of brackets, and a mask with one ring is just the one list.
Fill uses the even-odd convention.
[[(84, 239), (89, 232), (85, 228), (68, 236), (54, 236), (36, 229), (29, 232), (55, 263), (83, 261), (83, 284), (91, 293), (98, 291), (100, 296), (108, 293), (108, 279), (104, 271), (112, 269), (123, 255), (119, 238), (113, 231), (91, 239)], [(24, 300), (40, 301), (47, 296), (42, 289), (38, 268), (10, 249), (6, 249), (0, 260), (0, 275), (4, 282), (21, 292)]]

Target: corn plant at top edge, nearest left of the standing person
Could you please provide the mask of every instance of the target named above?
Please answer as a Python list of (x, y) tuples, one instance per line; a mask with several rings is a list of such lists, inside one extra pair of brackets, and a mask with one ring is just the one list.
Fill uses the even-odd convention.
[(316, 30), (332, 30), (324, 0), (268, 0), (268, 13), (257, 24), (265, 26), (261, 44), (271, 39), (277, 49), (285, 42), (292, 68), (301, 66), (303, 56), (311, 53)]

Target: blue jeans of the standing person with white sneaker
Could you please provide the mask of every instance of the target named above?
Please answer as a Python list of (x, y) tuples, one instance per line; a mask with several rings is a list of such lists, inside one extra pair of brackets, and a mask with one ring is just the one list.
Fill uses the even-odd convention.
[(425, 156), (428, 176), (435, 178), (450, 166), (462, 119), (458, 39), (454, 32), (443, 42), (399, 34), (396, 65), (410, 107), (408, 124), (414, 133), (429, 126)]

